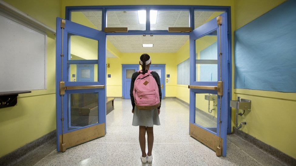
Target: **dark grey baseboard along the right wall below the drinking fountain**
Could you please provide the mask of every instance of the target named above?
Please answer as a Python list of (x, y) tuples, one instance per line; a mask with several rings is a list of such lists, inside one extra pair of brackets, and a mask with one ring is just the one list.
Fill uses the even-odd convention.
[(259, 139), (237, 129), (236, 127), (233, 127), (233, 133), (240, 136), (244, 140), (251, 142), (253, 145), (257, 146), (258, 148), (266, 151), (270, 155), (274, 156), (274, 158), (277, 158), (280, 161), (283, 161), (284, 163), (288, 165), (296, 165), (296, 159), (285, 154), (284, 152), (278, 150), (277, 148), (274, 148)]

